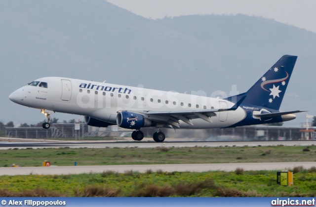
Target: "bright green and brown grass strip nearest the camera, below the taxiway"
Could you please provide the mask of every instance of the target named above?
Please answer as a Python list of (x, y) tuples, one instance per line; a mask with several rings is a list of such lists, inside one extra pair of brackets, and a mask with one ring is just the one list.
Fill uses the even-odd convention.
[(0, 176), (0, 197), (315, 197), (316, 168), (299, 168), (294, 186), (276, 171), (105, 171), (74, 175)]

